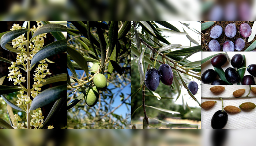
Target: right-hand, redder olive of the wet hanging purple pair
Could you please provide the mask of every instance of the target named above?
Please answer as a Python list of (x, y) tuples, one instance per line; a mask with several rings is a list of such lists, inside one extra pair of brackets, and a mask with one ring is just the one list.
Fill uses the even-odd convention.
[(162, 64), (159, 67), (160, 80), (165, 85), (171, 85), (173, 83), (173, 71), (167, 64)]

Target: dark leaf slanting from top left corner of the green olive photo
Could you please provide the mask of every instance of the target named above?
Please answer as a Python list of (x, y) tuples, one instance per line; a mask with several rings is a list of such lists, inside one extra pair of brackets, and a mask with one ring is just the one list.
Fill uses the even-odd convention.
[[(87, 29), (86, 29), (86, 25), (82, 22), (82, 21), (72, 21), (71, 22), (77, 30), (79, 30), (84, 37), (86, 37), (87, 39), (89, 39), (88, 34), (87, 34)], [(97, 41), (97, 39), (95, 39), (92, 35), (91, 35), (91, 41), (93, 42), (93, 44), (95, 44), (98, 48), (99, 46), (99, 42)]]

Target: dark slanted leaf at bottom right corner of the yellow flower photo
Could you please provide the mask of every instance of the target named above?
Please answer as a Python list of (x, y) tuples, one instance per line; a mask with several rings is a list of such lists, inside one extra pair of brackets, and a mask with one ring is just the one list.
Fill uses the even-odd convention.
[(45, 119), (45, 121), (43, 123), (43, 127), (41, 127), (41, 128), (46, 127), (54, 119), (54, 117), (60, 111), (61, 107), (64, 105), (65, 101), (67, 101), (66, 98), (60, 98), (60, 99), (55, 101), (52, 109), (50, 110), (48, 116), (46, 117), (46, 119)]

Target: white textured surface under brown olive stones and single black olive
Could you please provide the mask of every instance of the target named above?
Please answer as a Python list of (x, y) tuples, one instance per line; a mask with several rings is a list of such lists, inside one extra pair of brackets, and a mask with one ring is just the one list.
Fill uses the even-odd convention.
[[(246, 96), (249, 93), (249, 85), (221, 85), (225, 87), (225, 90), (222, 93), (216, 94), (210, 91), (210, 88), (216, 85), (202, 85), (202, 93), (201, 93), (201, 103), (204, 101), (214, 100), (217, 101), (215, 105), (208, 109), (201, 110), (201, 123), (202, 128), (204, 129), (212, 129), (211, 127), (211, 118), (215, 112), (218, 110), (222, 110), (222, 102), (221, 99), (203, 99), (203, 97), (222, 97), (224, 107), (227, 105), (233, 105), (239, 108), (239, 105), (245, 102), (252, 102), (256, 104), (255, 98), (246, 98), (246, 99), (225, 99), (225, 97), (234, 97), (233, 92), (237, 89), (246, 89), (244, 95)], [(256, 85), (252, 85), (252, 87), (256, 87)], [(249, 97), (256, 96), (254, 93), (250, 93)], [(250, 111), (241, 110), (241, 112), (237, 114), (229, 114), (228, 121), (224, 129), (255, 129), (256, 128), (256, 108)]]

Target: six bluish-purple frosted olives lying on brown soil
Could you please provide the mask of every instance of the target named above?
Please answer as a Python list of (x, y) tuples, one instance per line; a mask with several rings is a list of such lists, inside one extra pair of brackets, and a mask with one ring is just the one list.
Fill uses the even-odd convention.
[[(225, 27), (225, 35), (229, 38), (235, 37), (236, 32), (237, 32), (237, 28), (236, 28), (236, 25), (233, 23), (229, 23)], [(242, 23), (239, 27), (239, 32), (242, 35), (242, 37), (248, 38), (252, 34), (252, 28), (251, 26), (249, 26), (249, 24)], [(209, 42), (209, 45), (208, 45), (210, 51), (221, 51), (221, 45), (219, 45), (219, 42), (216, 40), (221, 36), (221, 34), (222, 34), (221, 26), (217, 25), (211, 29), (210, 37), (213, 39)], [(244, 46), (245, 46), (244, 40), (242, 38), (238, 38), (236, 39), (235, 43), (233, 43), (232, 41), (225, 41), (223, 43), (222, 50), (234, 51), (236, 49), (237, 51), (241, 51), (242, 49), (244, 49)]]

